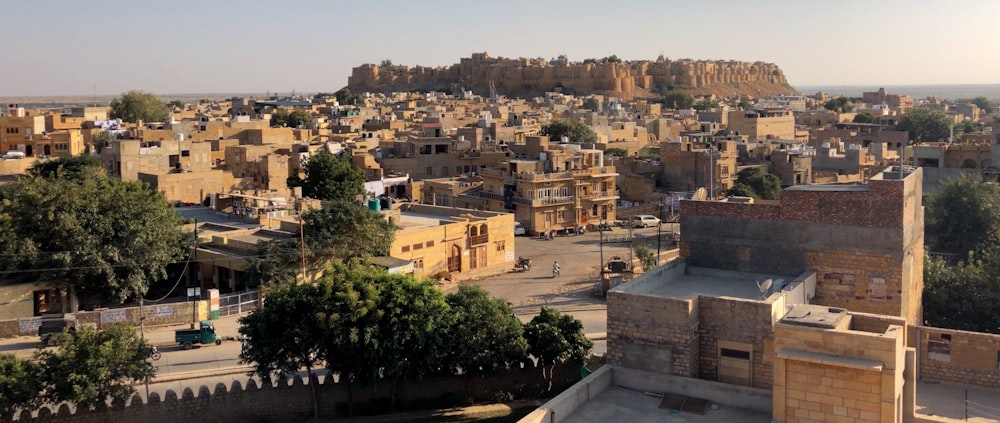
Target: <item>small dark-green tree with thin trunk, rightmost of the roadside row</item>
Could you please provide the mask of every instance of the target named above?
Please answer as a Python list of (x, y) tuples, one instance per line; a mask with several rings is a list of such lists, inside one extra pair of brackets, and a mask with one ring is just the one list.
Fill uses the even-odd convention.
[(548, 307), (542, 307), (525, 326), (524, 338), (528, 341), (528, 353), (538, 359), (542, 367), (542, 377), (549, 382), (549, 390), (556, 364), (583, 365), (594, 347), (583, 332), (583, 323)]

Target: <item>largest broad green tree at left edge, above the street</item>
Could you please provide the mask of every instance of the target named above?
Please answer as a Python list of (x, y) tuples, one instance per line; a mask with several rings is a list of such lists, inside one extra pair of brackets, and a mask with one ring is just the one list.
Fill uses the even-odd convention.
[[(117, 178), (25, 177), (0, 189), (0, 269), (122, 303), (166, 277), (190, 235), (163, 195)], [(0, 224), (4, 224), (0, 222)]]

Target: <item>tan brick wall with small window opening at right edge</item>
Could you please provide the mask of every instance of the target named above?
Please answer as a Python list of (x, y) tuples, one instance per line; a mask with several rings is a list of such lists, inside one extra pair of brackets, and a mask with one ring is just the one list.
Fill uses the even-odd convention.
[[(920, 378), (1000, 388), (1000, 335), (917, 326)], [(950, 339), (949, 339), (950, 337)]]

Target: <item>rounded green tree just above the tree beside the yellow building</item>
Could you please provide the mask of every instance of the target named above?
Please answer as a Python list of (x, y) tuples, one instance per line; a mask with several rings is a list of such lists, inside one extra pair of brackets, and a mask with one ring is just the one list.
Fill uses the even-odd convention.
[(302, 195), (324, 201), (355, 201), (365, 193), (365, 172), (351, 166), (345, 156), (320, 150), (303, 165), (305, 179), (288, 178), (288, 187), (302, 187)]

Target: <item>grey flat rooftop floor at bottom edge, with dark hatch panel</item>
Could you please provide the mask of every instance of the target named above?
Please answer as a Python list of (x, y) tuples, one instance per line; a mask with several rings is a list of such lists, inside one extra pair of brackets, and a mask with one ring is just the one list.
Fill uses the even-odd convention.
[(572, 414), (558, 419), (562, 423), (604, 422), (740, 422), (770, 423), (770, 413), (718, 405), (704, 414), (677, 412), (660, 408), (661, 399), (642, 392), (609, 386), (581, 405)]

